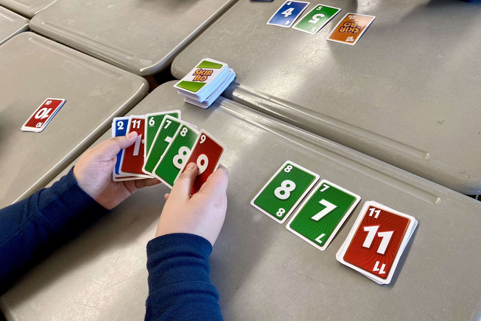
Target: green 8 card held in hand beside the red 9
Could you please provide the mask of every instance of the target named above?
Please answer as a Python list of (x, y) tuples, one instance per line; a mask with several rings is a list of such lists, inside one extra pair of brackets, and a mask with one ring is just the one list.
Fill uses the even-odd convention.
[(177, 174), (184, 167), (184, 162), (189, 159), (190, 149), (194, 145), (198, 134), (199, 132), (189, 123), (180, 121), (180, 126), (177, 128), (174, 138), (160, 157), (152, 175), (172, 188)]

